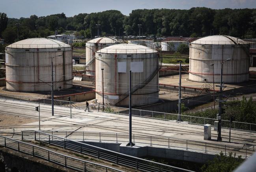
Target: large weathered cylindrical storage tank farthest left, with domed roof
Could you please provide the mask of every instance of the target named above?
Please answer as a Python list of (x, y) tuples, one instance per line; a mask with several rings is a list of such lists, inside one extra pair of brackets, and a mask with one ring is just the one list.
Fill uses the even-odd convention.
[(50, 91), (51, 58), (54, 90), (72, 87), (71, 46), (52, 39), (32, 38), (6, 47), (6, 89), (21, 92)]

